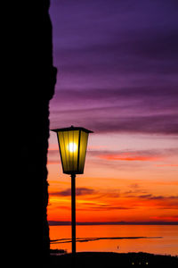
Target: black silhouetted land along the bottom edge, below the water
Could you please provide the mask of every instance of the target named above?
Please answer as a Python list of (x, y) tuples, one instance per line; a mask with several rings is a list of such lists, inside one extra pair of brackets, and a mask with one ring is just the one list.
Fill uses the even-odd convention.
[[(73, 263), (72, 263), (73, 262)], [(75, 262), (75, 265), (74, 265)], [(154, 255), (148, 253), (80, 252), (75, 261), (71, 254), (51, 255), (50, 267), (77, 268), (118, 268), (130, 265), (157, 265), (158, 267), (178, 267), (178, 256)]]

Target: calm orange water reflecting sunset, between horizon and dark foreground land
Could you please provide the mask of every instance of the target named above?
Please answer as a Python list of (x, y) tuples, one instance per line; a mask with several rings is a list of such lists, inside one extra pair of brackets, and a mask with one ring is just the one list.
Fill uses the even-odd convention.
[[(77, 226), (77, 238), (162, 237), (156, 239), (99, 239), (77, 242), (77, 252), (148, 252), (178, 255), (178, 226), (169, 225), (87, 225)], [(50, 239), (71, 239), (70, 226), (50, 226)], [(52, 244), (51, 248), (71, 252), (71, 243)]]

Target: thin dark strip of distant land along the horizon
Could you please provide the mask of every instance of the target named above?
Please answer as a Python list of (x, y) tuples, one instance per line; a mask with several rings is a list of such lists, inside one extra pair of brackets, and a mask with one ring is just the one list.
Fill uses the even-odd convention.
[[(50, 226), (69, 226), (71, 222), (48, 221)], [(76, 222), (76, 225), (178, 225), (178, 222)]]

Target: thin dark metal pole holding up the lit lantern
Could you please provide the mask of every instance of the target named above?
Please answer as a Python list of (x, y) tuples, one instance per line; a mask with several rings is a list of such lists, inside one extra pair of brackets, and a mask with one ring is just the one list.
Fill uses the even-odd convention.
[(72, 255), (76, 255), (76, 174), (71, 174)]

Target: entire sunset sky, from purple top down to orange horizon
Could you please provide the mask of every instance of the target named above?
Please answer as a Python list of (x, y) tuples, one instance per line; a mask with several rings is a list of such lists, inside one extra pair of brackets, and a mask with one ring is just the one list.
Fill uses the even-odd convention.
[[(93, 130), (77, 222), (178, 222), (178, 2), (51, 0), (50, 128)], [(56, 134), (48, 220), (71, 219)]]

